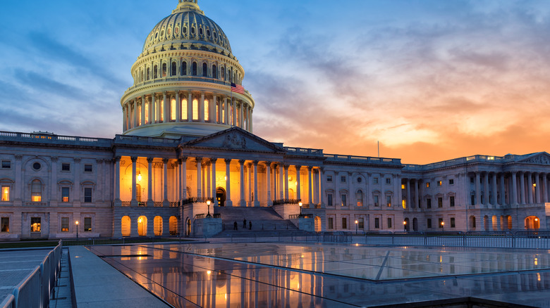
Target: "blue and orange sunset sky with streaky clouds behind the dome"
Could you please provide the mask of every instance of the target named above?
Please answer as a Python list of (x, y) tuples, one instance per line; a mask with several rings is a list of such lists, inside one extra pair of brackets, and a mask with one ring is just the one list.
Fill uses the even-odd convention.
[[(177, 0), (2, 0), (0, 131), (114, 138)], [(547, 0), (199, 0), (255, 99), (254, 134), (427, 164), (550, 152)]]

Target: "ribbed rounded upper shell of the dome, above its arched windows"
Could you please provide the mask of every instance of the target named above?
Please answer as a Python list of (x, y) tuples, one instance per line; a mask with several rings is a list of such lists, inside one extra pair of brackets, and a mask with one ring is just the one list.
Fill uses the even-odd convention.
[(172, 14), (153, 28), (145, 39), (143, 52), (159, 51), (163, 46), (164, 49), (180, 49), (187, 44), (198, 44), (197, 47), (231, 54), (231, 46), (224, 31), (207, 18), (193, 0), (181, 0)]

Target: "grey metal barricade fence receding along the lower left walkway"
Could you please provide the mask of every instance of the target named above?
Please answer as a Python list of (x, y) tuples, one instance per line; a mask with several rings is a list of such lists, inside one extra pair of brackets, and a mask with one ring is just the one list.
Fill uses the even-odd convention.
[(61, 269), (61, 241), (42, 263), (13, 288), (13, 295), (0, 304), (1, 308), (49, 307), (49, 295)]

